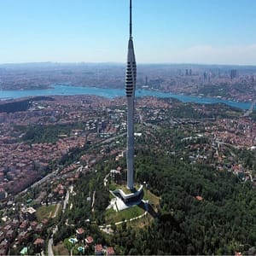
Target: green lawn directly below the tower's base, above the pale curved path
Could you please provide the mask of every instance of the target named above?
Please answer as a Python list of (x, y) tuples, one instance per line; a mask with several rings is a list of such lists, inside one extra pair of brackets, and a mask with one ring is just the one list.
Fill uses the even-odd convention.
[(134, 206), (128, 209), (125, 209), (121, 212), (115, 212), (113, 208), (106, 211), (106, 224), (116, 223), (124, 219), (135, 218), (144, 213), (144, 210), (141, 207)]

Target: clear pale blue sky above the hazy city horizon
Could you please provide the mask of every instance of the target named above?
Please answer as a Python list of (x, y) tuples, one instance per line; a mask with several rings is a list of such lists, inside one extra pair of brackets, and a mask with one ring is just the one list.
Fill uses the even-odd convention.
[[(0, 63), (125, 62), (129, 0), (1, 0)], [(255, 0), (133, 0), (138, 63), (256, 65)]]

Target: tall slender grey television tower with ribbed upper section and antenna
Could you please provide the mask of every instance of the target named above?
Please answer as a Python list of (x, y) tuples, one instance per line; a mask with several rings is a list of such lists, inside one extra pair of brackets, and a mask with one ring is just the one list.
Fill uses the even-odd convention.
[(134, 96), (136, 89), (137, 67), (132, 41), (132, 24), (131, 24), (131, 0), (130, 0), (130, 37), (128, 41), (128, 54), (125, 77), (125, 90), (127, 98), (127, 145), (126, 145), (126, 162), (127, 162), (127, 188), (134, 189)]

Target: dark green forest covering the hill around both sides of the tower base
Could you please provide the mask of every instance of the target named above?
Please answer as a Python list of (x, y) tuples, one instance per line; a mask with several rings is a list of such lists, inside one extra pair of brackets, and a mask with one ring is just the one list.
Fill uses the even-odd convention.
[[(125, 161), (119, 162), (121, 166)], [(256, 241), (256, 191), (253, 183), (241, 180), (231, 172), (217, 171), (208, 165), (190, 165), (175, 155), (147, 149), (137, 150), (136, 179), (146, 181), (148, 189), (159, 195), (158, 217), (143, 229), (122, 224), (106, 236), (97, 229), (104, 223), (108, 190), (102, 178), (108, 164), (96, 166), (101, 172), (86, 173), (76, 183), (73, 210), (65, 213), (73, 227), (61, 226), (55, 242), (75, 228), (83, 226), (95, 241), (113, 246), (118, 254), (234, 254), (245, 253)], [(96, 209), (90, 211), (86, 197), (96, 190)], [(95, 219), (88, 224), (85, 219)]]

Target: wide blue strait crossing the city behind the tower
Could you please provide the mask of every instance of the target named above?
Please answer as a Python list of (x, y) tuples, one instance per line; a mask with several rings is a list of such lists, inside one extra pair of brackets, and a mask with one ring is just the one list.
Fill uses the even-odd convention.
[[(55, 85), (52, 89), (47, 90), (0, 90), (0, 99), (16, 99), (27, 96), (72, 96), (72, 95), (96, 95), (113, 98), (116, 96), (125, 96), (124, 89), (106, 89), (96, 87), (78, 87), (70, 85)], [(156, 96), (162, 98), (176, 98), (181, 102), (196, 102), (201, 104), (224, 103), (232, 107), (248, 109), (250, 102), (232, 102), (220, 98), (205, 98), (200, 96), (184, 96), (168, 92), (154, 90), (137, 90), (136, 96)]]

